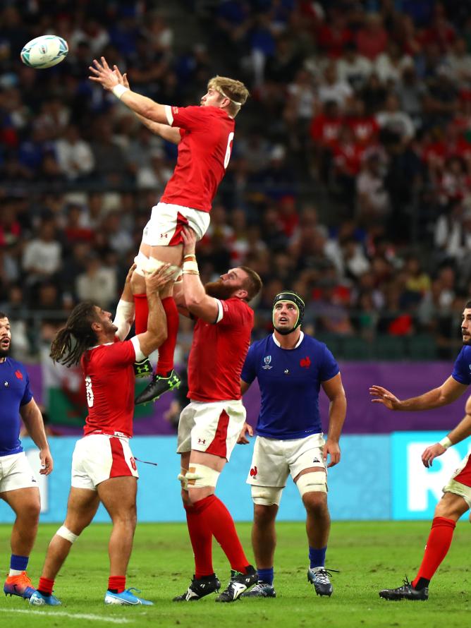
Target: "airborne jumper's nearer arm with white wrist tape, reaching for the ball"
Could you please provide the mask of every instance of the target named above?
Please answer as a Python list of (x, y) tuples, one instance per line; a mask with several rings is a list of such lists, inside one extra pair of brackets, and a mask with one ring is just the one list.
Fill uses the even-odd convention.
[(166, 107), (121, 85), (114, 71), (106, 63), (104, 56), (102, 56), (101, 63), (97, 59), (93, 59), (93, 65), (89, 66), (89, 70), (93, 74), (93, 76), (88, 77), (90, 80), (102, 85), (104, 90), (113, 92), (121, 102), (126, 104), (126, 107), (132, 109), (136, 114), (154, 122), (169, 124)]

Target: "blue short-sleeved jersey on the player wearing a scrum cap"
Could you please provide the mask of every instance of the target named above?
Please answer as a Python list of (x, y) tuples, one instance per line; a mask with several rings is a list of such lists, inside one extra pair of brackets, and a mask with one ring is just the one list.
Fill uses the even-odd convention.
[(247, 384), (255, 378), (259, 383), (257, 434), (288, 440), (322, 432), (319, 388), (337, 373), (326, 345), (306, 334), (295, 349), (281, 349), (273, 335), (254, 342), (240, 377)]

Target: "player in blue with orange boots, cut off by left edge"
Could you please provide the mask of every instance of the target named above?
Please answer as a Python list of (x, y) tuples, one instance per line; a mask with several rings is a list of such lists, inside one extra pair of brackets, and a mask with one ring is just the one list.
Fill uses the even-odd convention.
[(4, 592), (29, 598), (35, 589), (26, 569), (35, 544), (41, 502), (35, 475), (20, 442), (20, 416), (39, 448), (42, 466), (39, 473), (49, 475), (53, 461), (41, 411), (30, 390), (30, 378), (23, 364), (8, 356), (10, 346), (10, 321), (0, 312), (0, 499), (16, 514), (10, 538), (10, 572)]

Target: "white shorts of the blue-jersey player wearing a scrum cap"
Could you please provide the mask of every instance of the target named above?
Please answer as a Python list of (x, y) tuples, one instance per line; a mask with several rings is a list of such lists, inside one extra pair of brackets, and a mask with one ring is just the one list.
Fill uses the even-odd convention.
[(278, 440), (257, 436), (247, 484), (284, 488), (288, 475), (294, 478), (312, 466), (326, 469), (322, 451), (324, 435)]

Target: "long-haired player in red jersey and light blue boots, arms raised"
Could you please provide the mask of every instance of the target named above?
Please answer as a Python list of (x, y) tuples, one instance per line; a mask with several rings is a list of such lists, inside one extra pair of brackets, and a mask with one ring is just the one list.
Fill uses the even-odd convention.
[[(146, 277), (149, 321), (147, 331), (124, 340), (134, 318), (128, 272), (116, 318), (90, 301), (79, 303), (66, 327), (51, 344), (51, 358), (66, 366), (80, 361), (87, 391), (88, 416), (84, 437), (72, 457), (72, 485), (66, 520), (47, 549), (37, 591), (30, 604), (56, 606), (54, 581), (80, 533), (91, 523), (102, 502), (111, 517), (110, 572), (106, 604), (150, 605), (126, 590), (126, 569), (136, 526), (137, 468), (129, 439), (133, 435), (133, 363), (157, 349), (166, 337), (166, 321), (158, 291), (169, 282), (169, 265)], [(118, 382), (114, 385), (113, 382)]]

